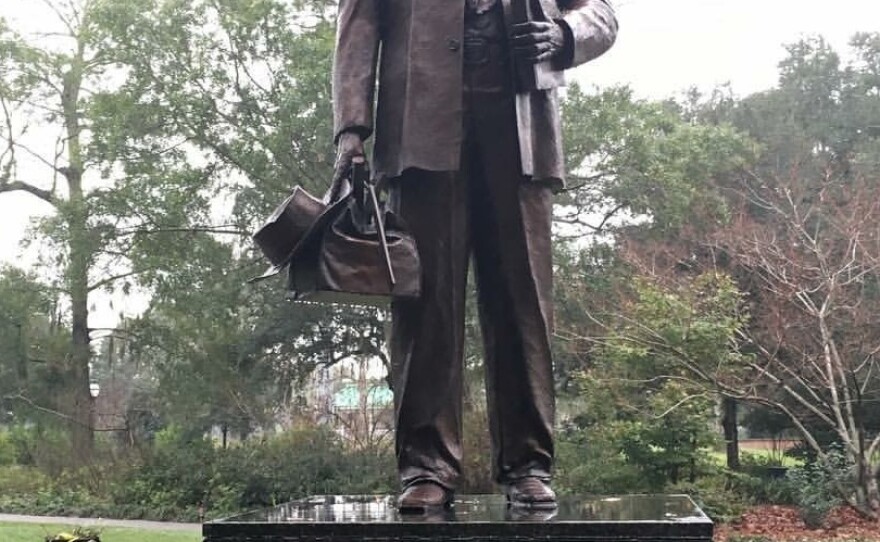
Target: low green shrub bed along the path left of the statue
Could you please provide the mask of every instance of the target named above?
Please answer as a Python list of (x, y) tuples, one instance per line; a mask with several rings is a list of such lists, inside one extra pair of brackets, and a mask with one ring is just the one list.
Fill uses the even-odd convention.
[[(0, 512), (196, 521), (313, 494), (387, 493), (389, 452), (346, 448), (325, 429), (297, 429), (220, 449), (176, 428), (140, 454), (55, 476), (0, 467)], [(13, 491), (14, 489), (14, 491)]]

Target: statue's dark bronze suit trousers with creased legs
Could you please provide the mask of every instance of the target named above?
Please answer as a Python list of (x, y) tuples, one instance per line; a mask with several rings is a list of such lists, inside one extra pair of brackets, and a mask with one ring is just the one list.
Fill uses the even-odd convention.
[[(477, 72), (472, 80), (479, 80)], [(499, 483), (549, 480), (553, 461), (551, 190), (521, 173), (512, 91), (466, 90), (463, 106), (459, 171), (410, 169), (391, 182), (392, 206), (415, 236), (423, 273), (421, 297), (392, 305), (396, 454), (404, 487), (433, 481), (455, 489), (461, 474), (471, 255), (493, 476)]]

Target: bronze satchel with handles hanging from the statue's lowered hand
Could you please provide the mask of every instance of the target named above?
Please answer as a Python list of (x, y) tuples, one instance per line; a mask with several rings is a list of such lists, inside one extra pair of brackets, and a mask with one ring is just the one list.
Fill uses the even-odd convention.
[(368, 193), (375, 188), (369, 180), (353, 181), (343, 189), (338, 214), (306, 239), (291, 261), (288, 299), (386, 306), (421, 294), (415, 239), (374, 192)]

